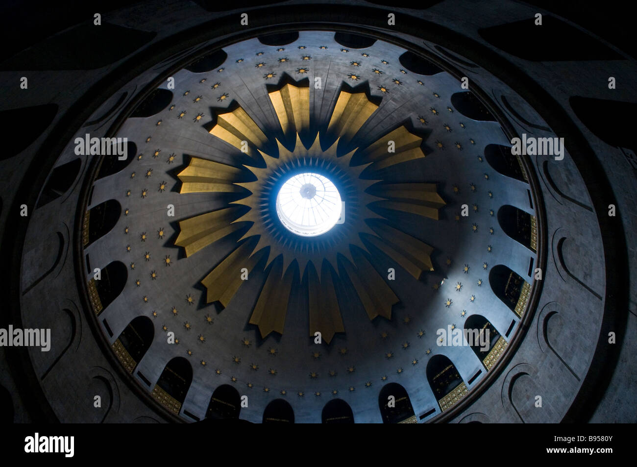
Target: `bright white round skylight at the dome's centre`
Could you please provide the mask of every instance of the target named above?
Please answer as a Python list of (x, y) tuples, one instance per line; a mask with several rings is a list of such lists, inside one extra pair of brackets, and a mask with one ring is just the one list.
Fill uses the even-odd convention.
[(276, 196), (276, 214), (290, 232), (304, 237), (326, 233), (341, 217), (341, 195), (318, 173), (290, 177)]

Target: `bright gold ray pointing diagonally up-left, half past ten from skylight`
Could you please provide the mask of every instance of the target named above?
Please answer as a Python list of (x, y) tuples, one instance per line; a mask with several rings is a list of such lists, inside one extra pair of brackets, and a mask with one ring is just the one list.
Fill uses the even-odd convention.
[[(252, 147), (264, 147), (268, 138), (261, 131), (259, 126), (252, 120), (252, 117), (238, 107), (231, 112), (217, 115), (217, 124), (210, 130), (210, 134), (217, 136), (226, 143), (241, 150), (241, 141), (248, 141)], [(257, 160), (254, 149), (248, 145), (248, 154), (252, 159)]]

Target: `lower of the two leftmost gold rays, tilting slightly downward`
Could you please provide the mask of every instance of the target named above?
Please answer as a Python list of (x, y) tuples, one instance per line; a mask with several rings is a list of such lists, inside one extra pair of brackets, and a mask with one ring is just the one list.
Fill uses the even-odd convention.
[(244, 227), (246, 224), (231, 224), (237, 212), (238, 206), (232, 206), (180, 220), (179, 236), (175, 240), (175, 245), (183, 247), (186, 257), (189, 257), (201, 248)]

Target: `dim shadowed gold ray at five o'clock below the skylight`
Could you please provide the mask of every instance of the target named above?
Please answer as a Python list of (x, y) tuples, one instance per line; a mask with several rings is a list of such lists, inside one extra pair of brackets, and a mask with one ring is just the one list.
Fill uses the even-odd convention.
[(355, 262), (352, 263), (356, 266), (348, 261), (343, 261), (343, 266), (354, 285), (354, 289), (356, 289), (369, 320), (371, 321), (379, 315), (392, 319), (392, 305), (400, 300), (362, 252), (355, 248), (352, 250), (352, 255), (355, 258)]

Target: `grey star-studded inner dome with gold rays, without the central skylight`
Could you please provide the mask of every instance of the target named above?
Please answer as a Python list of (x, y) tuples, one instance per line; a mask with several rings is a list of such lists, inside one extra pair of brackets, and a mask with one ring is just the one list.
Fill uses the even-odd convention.
[[(250, 400), (242, 413), (260, 414), (276, 394), (302, 400), (301, 422), (330, 398), (371, 411), (375, 398), (347, 394), (389, 382), (447, 409), (487, 375), (524, 313), (537, 229), (521, 161), (510, 156), (524, 173), (515, 179), (485, 160), (485, 147), (510, 141), (482, 103), (462, 98), (460, 80), (382, 40), (301, 31), (234, 43), (166, 83), (123, 122), (116, 136), (134, 154), (98, 173), (88, 206), (121, 206), (85, 254), (125, 265), (106, 307), (89, 282), (124, 363), (156, 380), (187, 358), (191, 414), (231, 384)], [(282, 183), (301, 173), (329, 177), (343, 201), (341, 222), (318, 236), (290, 232), (276, 212)], [(533, 243), (499, 225), (510, 205)], [(494, 293), (497, 265), (511, 269), (519, 300)], [(117, 336), (140, 315), (154, 340), (134, 361)], [(500, 334), (487, 363), (438, 333), (476, 315)], [(453, 391), (428, 388), (434, 356), (453, 364)]]

